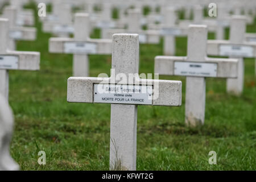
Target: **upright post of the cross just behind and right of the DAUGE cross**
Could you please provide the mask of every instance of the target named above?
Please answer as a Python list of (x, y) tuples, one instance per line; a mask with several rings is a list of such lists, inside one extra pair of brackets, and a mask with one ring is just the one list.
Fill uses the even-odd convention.
[[(207, 27), (191, 27), (188, 32), (188, 60), (204, 61), (206, 48)], [(185, 122), (188, 125), (204, 123), (205, 85), (205, 77), (186, 77)]]

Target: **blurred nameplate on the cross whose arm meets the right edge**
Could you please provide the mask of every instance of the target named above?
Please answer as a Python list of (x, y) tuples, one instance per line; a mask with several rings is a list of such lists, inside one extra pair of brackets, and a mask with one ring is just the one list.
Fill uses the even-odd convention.
[(253, 57), (253, 47), (241, 45), (220, 45), (220, 56)]

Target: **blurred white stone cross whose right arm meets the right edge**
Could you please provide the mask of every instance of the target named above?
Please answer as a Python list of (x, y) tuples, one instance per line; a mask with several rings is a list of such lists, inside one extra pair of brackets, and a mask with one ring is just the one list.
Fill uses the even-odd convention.
[(208, 55), (238, 58), (238, 77), (228, 78), (227, 91), (236, 95), (243, 92), (243, 57), (256, 57), (256, 44), (245, 42), (246, 17), (234, 15), (230, 26), (229, 40), (208, 40)]

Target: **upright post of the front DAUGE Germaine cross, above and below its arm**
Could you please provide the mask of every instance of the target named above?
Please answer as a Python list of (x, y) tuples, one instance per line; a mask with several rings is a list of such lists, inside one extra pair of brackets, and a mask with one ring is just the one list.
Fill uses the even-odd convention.
[[(139, 40), (137, 36), (113, 36), (112, 69), (115, 74), (139, 72)], [(123, 160), (127, 169), (136, 169), (137, 105), (111, 105), (110, 163)]]

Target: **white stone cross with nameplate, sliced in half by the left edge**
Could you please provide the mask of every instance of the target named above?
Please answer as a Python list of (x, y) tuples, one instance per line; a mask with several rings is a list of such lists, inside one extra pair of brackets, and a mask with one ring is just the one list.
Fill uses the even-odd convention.
[(40, 53), (7, 49), (9, 20), (0, 18), (0, 94), (9, 96), (9, 70), (39, 70)]

